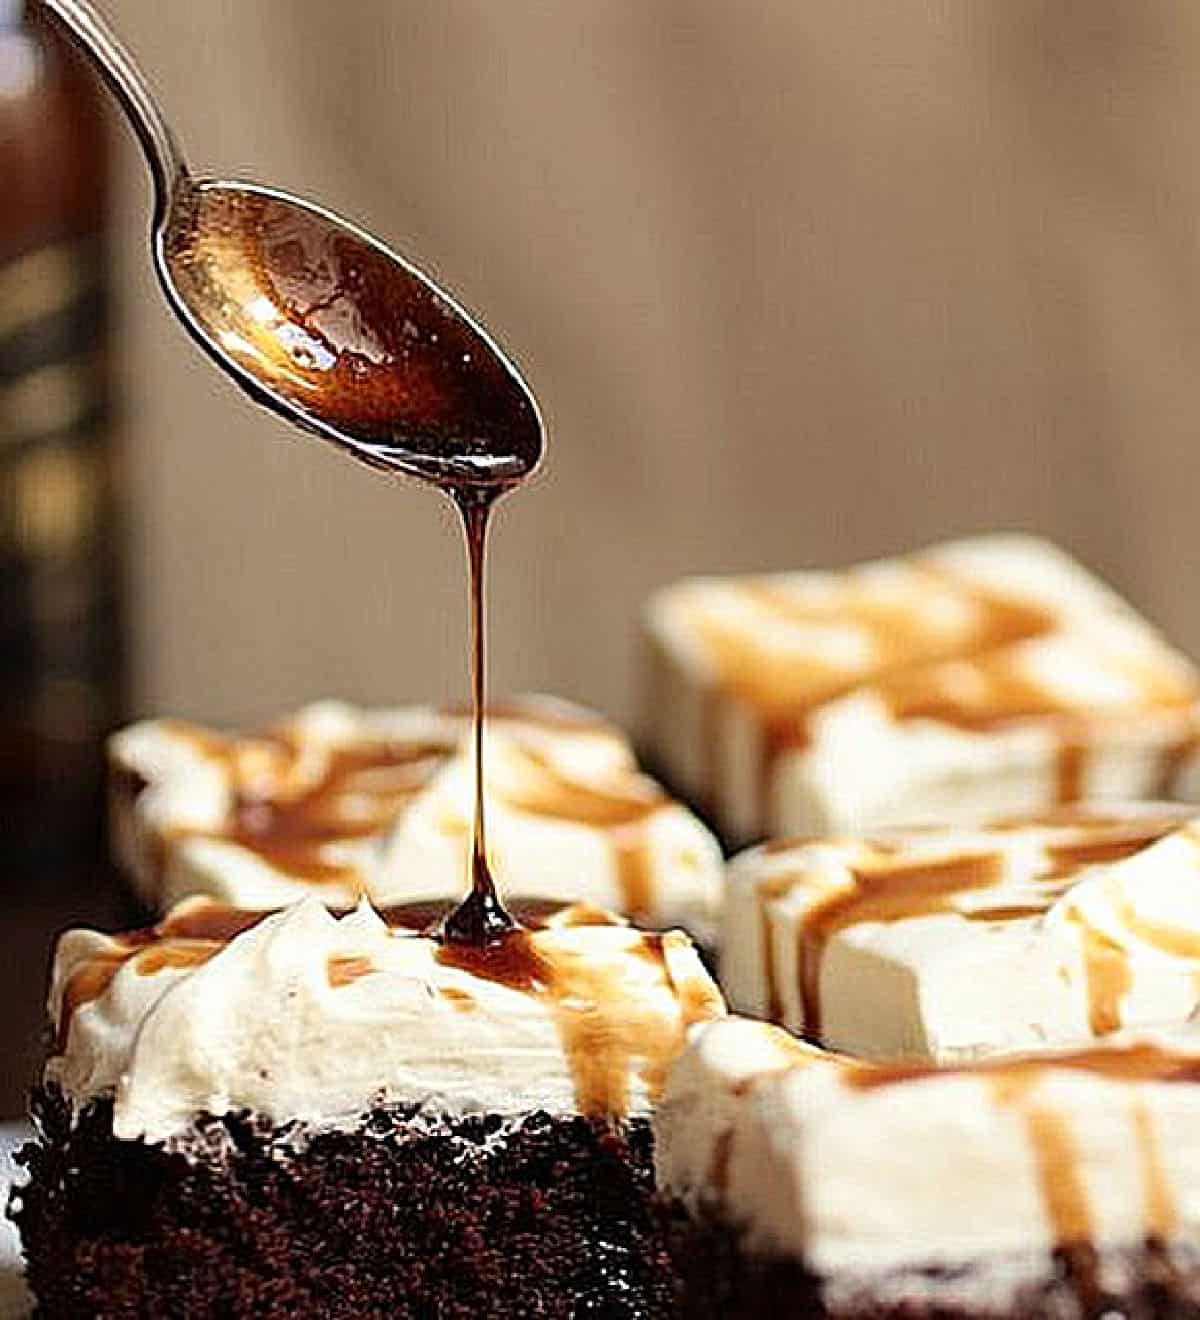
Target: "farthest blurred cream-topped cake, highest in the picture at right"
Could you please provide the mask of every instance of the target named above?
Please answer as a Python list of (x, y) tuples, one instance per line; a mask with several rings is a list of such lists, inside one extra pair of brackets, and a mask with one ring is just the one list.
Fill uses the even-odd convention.
[(1200, 788), (1196, 671), (1032, 537), (696, 578), (646, 632), (647, 750), (734, 842)]

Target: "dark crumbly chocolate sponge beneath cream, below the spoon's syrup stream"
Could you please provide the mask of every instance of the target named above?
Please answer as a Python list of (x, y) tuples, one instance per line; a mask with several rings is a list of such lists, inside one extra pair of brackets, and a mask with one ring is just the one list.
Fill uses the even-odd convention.
[(230, 1114), (183, 1152), (114, 1138), (107, 1100), (32, 1110), (9, 1214), (50, 1320), (673, 1315), (644, 1119)]

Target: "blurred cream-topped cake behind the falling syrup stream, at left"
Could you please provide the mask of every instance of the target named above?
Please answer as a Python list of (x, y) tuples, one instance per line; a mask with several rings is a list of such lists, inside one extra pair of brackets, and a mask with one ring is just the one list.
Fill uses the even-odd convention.
[[(627, 739), (566, 702), (487, 719), (488, 858), (500, 888), (712, 935), (721, 851), (639, 772)], [(429, 706), (306, 706), (261, 735), (181, 721), (111, 742), (112, 837), (152, 909), (190, 894), (271, 908), (458, 896), (474, 812), (470, 719)]]

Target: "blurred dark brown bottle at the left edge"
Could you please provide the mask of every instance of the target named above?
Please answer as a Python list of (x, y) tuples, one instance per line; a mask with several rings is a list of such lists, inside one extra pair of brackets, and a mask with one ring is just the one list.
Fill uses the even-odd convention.
[(90, 70), (0, 0), (0, 861), (50, 888), (98, 855), (123, 697), (108, 166)]

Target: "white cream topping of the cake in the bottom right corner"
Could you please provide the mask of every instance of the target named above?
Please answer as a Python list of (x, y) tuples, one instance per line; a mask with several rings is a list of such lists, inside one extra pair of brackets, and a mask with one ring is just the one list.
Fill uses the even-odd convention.
[(727, 1018), (693, 1031), (655, 1138), (660, 1185), (751, 1251), (849, 1276), (1001, 1258), (980, 1286), (1015, 1288), (1059, 1246), (1195, 1241), (1200, 1028), (890, 1069)]

